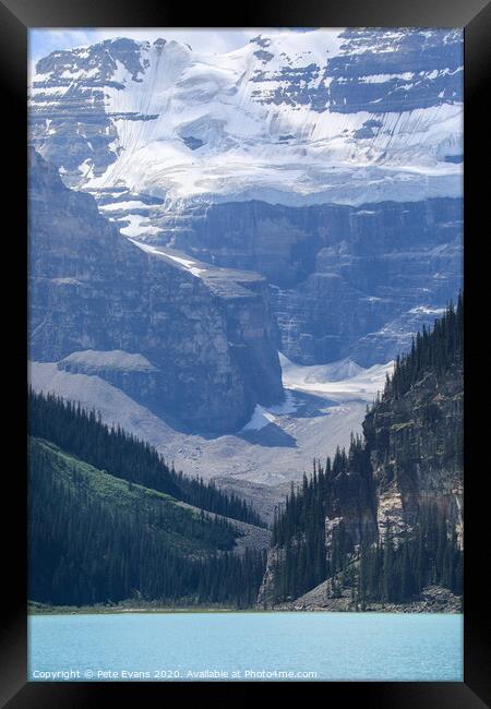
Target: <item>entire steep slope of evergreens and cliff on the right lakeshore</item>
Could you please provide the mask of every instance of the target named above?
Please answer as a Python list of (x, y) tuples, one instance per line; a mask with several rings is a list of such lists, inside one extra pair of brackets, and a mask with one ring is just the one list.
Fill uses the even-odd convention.
[(434, 585), (462, 593), (463, 311), (459, 297), (397, 358), (363, 438), (292, 488), (260, 603), (326, 579), (324, 600), (349, 596), (354, 608), (410, 602)]

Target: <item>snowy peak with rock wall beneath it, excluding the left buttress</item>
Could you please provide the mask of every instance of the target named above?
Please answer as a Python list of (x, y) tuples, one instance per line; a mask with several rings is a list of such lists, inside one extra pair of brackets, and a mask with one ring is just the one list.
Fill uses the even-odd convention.
[(121, 233), (270, 284), (302, 364), (387, 362), (462, 279), (463, 41), (272, 33), (43, 58), (29, 134)]

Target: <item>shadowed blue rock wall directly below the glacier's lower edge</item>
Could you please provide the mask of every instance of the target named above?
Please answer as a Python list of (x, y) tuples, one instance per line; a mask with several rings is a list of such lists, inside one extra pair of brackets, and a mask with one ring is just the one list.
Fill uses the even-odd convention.
[(410, 346), (462, 284), (462, 200), (362, 207), (227, 203), (168, 215), (167, 241), (270, 281), (280, 349), (370, 366)]

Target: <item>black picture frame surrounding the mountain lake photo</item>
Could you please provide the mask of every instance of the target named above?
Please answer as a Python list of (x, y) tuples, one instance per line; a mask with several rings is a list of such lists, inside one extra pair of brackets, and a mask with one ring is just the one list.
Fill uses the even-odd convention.
[[(465, 673), (463, 683), (433, 682), (352, 682), (352, 683), (288, 683), (288, 692), (300, 688), (308, 694), (310, 688), (323, 687), (324, 700), (357, 701), (363, 708), (405, 709), (433, 707), (435, 709), (478, 709), (490, 705), (489, 637), (487, 629), (488, 588), (484, 582), (489, 531), (487, 524), (483, 485), (487, 470), (479, 466), (479, 452), (486, 445), (487, 436), (480, 417), (475, 417), (482, 396), (479, 369), (486, 356), (484, 332), (476, 332), (469, 323), (478, 322), (479, 309), (486, 307), (486, 275), (480, 277), (478, 264), (486, 241), (487, 157), (486, 144), (488, 113), (484, 97), (488, 88), (491, 36), (491, 8), (484, 0), (343, 0), (323, 5), (312, 0), (303, 3), (288, 1), (261, 3), (235, 3), (235, 7), (185, 7), (177, 2), (152, 2), (152, 0), (1, 0), (0, 1), (0, 72), (2, 74), (2, 104), (7, 112), (4, 142), (11, 152), (5, 163), (9, 167), (9, 205), (13, 224), (9, 227), (9, 240), (14, 247), (10, 257), (9, 272), (15, 274), (17, 291), (9, 290), (7, 310), (12, 316), (9, 338), (15, 336), (14, 362), (19, 368), (15, 398), (11, 399), (9, 414), (13, 424), (9, 447), (14, 447), (15, 469), (4, 469), (4, 507), (13, 512), (3, 532), (3, 587), (8, 599), (4, 602), (5, 618), (2, 625), (0, 645), (1, 706), (12, 709), (36, 707), (98, 707), (107, 695), (118, 692), (124, 701), (145, 701), (144, 696), (157, 698), (164, 704), (169, 686), (146, 683), (27, 683), (26, 682), (26, 476), (25, 450), (26, 413), (24, 406), (26, 361), (26, 295), (25, 280), (27, 257), (26, 233), (26, 75), (27, 75), (27, 29), (31, 27), (278, 27), (278, 26), (326, 26), (326, 27), (383, 27), (383, 26), (440, 26), (465, 28), (465, 317), (466, 317), (466, 365), (465, 365), (465, 501), (466, 501), (466, 552), (465, 552)], [(7, 137), (7, 140), (5, 140)], [(483, 168), (481, 171), (479, 168)], [(14, 206), (15, 205), (15, 206)], [(489, 230), (489, 227), (488, 227)], [(13, 242), (13, 243), (12, 243)], [(7, 263), (7, 261), (4, 262)], [(484, 264), (487, 265), (487, 264)], [(19, 272), (19, 273), (17, 273)], [(479, 292), (481, 288), (482, 293)], [(15, 302), (16, 308), (12, 303)], [(477, 327), (477, 326), (476, 326)], [(20, 384), (20, 386), (19, 386)], [(19, 390), (21, 389), (21, 390)], [(484, 394), (486, 396), (486, 394)], [(489, 396), (487, 397), (489, 401)], [(21, 404), (19, 404), (21, 401)], [(479, 423), (481, 421), (481, 423)], [(481, 425), (481, 429), (479, 429)], [(15, 435), (14, 435), (15, 434)], [(15, 443), (14, 443), (15, 441)], [(10, 471), (10, 472), (9, 472)], [(9, 472), (9, 474), (7, 474)], [(5, 479), (7, 478), (7, 479)], [(8, 501), (8, 504), (7, 504)], [(488, 503), (489, 504), (489, 503)], [(5, 515), (2, 515), (5, 521)], [(14, 541), (13, 541), (14, 540)], [(14, 570), (16, 567), (17, 570)], [(7, 580), (8, 579), (8, 580)], [(202, 692), (213, 687), (227, 701), (237, 700), (235, 683), (179, 683), (172, 690), (181, 697), (189, 692)], [(246, 683), (244, 683), (246, 684)], [(284, 684), (273, 683), (279, 692)], [(251, 689), (264, 683), (247, 684), (246, 698)], [(158, 699), (160, 697), (160, 699)], [(112, 698), (112, 697), (111, 697)], [(148, 699), (148, 704), (151, 700)]]

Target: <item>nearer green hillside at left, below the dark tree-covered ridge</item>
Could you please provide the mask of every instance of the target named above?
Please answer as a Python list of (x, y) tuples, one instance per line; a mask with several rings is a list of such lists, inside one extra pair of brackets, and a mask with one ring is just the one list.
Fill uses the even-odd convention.
[(264, 554), (233, 552), (236, 527), (168, 494), (29, 440), (29, 599), (83, 605), (132, 597), (244, 606)]

